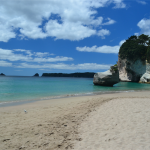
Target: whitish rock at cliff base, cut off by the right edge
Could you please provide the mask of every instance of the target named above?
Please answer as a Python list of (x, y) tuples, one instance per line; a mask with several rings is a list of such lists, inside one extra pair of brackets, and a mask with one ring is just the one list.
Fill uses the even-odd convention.
[(140, 78), (140, 83), (150, 83), (150, 64), (146, 64), (146, 73)]

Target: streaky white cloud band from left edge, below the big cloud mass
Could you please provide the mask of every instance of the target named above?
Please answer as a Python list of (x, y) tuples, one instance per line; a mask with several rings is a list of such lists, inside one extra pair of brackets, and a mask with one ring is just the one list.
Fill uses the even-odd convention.
[(71, 57), (63, 57), (63, 56), (48, 57), (49, 55), (52, 54), (49, 54), (48, 52), (32, 53), (31, 50), (24, 50), (24, 49), (7, 50), (7, 49), (0, 48), (0, 60), (26, 61), (26, 62), (38, 62), (38, 63), (73, 60), (73, 58)]

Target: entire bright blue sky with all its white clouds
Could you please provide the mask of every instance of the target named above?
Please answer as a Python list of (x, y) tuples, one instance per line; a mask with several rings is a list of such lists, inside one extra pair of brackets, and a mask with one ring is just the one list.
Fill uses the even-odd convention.
[(150, 36), (149, 0), (1, 0), (0, 73), (103, 72), (140, 34)]

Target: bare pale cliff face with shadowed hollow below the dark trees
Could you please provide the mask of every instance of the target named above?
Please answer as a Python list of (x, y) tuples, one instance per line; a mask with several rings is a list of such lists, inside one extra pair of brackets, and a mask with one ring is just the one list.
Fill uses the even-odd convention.
[(146, 63), (141, 60), (135, 62), (127, 59), (118, 59), (119, 78), (121, 81), (139, 82), (146, 73)]

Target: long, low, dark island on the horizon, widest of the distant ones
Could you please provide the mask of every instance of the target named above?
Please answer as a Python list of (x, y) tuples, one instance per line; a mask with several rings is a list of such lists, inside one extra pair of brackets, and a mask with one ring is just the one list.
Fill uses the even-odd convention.
[(78, 77), (78, 78), (93, 78), (94, 72), (76, 72), (76, 73), (43, 73), (42, 77)]

